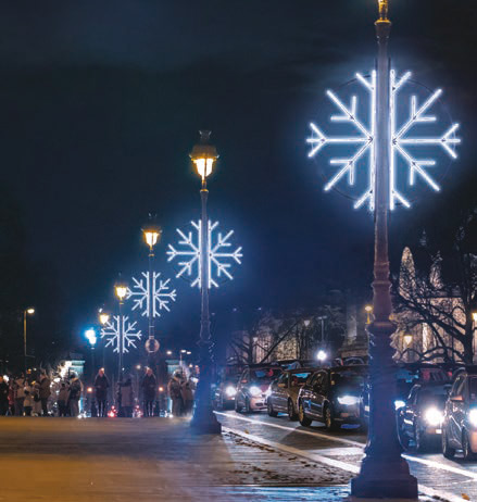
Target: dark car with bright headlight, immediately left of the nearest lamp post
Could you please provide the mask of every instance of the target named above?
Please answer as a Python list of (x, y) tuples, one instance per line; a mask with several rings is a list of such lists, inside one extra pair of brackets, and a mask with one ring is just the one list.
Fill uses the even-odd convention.
[(366, 376), (366, 365), (335, 366), (313, 373), (298, 397), (300, 424), (324, 422), (330, 430), (342, 424), (361, 425), (361, 396)]

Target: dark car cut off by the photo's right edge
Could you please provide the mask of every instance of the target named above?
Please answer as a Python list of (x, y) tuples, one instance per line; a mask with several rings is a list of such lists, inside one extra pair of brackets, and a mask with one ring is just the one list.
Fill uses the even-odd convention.
[(452, 459), (456, 450), (462, 450), (466, 460), (477, 460), (476, 366), (467, 367), (457, 376), (445, 401), (442, 453)]

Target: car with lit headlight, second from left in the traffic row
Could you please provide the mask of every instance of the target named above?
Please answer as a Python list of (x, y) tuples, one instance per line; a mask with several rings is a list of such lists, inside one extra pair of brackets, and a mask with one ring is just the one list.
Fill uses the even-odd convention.
[(279, 366), (248, 366), (237, 384), (236, 412), (259, 412), (266, 410), (266, 391), (269, 384), (281, 374)]

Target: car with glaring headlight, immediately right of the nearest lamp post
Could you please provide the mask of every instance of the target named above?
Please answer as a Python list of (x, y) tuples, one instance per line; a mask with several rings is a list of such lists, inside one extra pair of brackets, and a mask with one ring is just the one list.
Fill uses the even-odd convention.
[(417, 451), (440, 445), (442, 419), (450, 384), (416, 384), (398, 410), (399, 439), (404, 449), (413, 441)]

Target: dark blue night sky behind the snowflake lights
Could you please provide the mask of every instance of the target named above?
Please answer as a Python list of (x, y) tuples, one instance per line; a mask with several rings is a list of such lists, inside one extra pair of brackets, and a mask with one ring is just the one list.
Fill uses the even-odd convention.
[[(396, 265), (404, 243), (424, 227), (438, 238), (451, 225), (443, 215), (475, 191), (477, 8), (391, 0), (390, 17), (394, 66), (445, 90), (463, 138), (442, 192), (425, 190), (392, 215)], [(3, 2), (2, 190), (21, 208), (26, 254), (47, 277), (28, 300), (55, 312), (38, 312), (37, 332), (80, 346), (97, 308), (112, 304), (117, 273), (146, 266), (150, 212), (163, 227), (160, 268), (174, 273), (166, 246), (199, 215), (188, 154), (200, 128), (212, 129), (221, 154), (211, 217), (235, 229), (244, 254), (234, 283), (211, 298), (222, 324), (235, 306), (313, 305), (327, 288), (366, 286), (373, 218), (323, 192), (304, 140), (311, 120), (326, 124), (324, 91), (373, 67), (375, 18), (375, 0)], [(199, 294), (176, 287), (160, 331), (190, 346)]]

